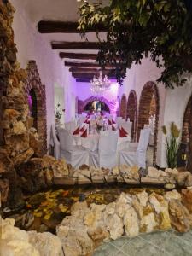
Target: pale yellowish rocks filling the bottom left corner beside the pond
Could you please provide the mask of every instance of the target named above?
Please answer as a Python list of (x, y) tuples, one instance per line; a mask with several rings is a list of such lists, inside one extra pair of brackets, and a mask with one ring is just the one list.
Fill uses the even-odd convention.
[(51, 233), (26, 232), (11, 218), (0, 221), (0, 254), (16, 256), (61, 256), (61, 240)]

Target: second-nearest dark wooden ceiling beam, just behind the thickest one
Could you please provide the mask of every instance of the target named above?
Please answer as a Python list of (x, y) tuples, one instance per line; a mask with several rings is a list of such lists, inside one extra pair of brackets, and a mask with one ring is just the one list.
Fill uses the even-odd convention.
[(100, 49), (97, 42), (52, 42), (52, 49)]

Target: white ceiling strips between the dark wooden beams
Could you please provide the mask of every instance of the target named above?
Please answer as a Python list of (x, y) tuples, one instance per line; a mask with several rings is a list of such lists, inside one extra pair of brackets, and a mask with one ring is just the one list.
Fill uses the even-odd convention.
[[(25, 9), (26, 15), (32, 22), (32, 26), (37, 27), (40, 20), (55, 20), (55, 21), (78, 21), (78, 7), (77, 0), (16, 0), (18, 5)], [(96, 3), (97, 0), (89, 0), (90, 3)], [(109, 0), (102, 0), (103, 4), (108, 4)], [(69, 42), (84, 42), (78, 33), (47, 33), (42, 34), (49, 42), (53, 41), (69, 41)], [(100, 38), (105, 39), (105, 33), (100, 33)], [(96, 33), (87, 34), (88, 41), (96, 42)], [(97, 50), (54, 50), (55, 54), (59, 52), (73, 52), (73, 53), (96, 53)], [(67, 61), (67, 59), (63, 59)], [(68, 61), (75, 61), (69, 59)], [(95, 62), (94, 60), (76, 60), (77, 62)]]

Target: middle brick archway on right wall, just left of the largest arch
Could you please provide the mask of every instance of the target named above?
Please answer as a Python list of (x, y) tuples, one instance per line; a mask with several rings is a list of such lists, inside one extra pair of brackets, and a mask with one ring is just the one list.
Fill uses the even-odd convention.
[(135, 90), (131, 90), (127, 100), (126, 117), (132, 122), (131, 137), (136, 140), (137, 134), (137, 95)]

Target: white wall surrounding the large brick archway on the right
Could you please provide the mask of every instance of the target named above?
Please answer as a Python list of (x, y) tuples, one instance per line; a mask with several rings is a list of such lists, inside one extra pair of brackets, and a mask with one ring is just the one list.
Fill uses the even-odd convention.
[[(131, 69), (127, 70), (124, 84), (119, 88), (120, 98), (124, 93), (128, 98), (130, 91), (136, 90), (139, 107), (139, 98), (144, 84), (148, 81), (155, 82), (159, 77), (160, 69), (149, 59), (143, 59), (141, 65), (134, 65)], [(160, 116), (156, 164), (160, 167), (166, 167), (165, 137), (161, 127), (162, 125), (170, 125), (173, 121), (182, 131), (183, 114), (192, 94), (192, 78), (188, 77), (188, 82), (183, 87), (178, 87), (174, 90), (166, 89), (164, 84), (157, 84), (157, 88), (160, 97)]]

